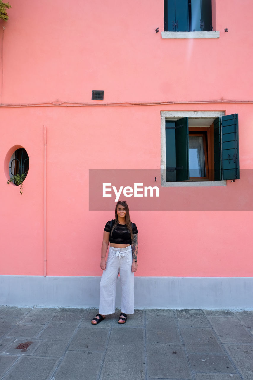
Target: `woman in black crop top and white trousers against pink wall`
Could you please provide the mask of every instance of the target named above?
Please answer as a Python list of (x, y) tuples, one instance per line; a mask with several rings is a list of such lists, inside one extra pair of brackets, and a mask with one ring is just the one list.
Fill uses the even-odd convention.
[[(134, 272), (137, 271), (138, 230), (131, 223), (126, 201), (118, 201), (115, 219), (104, 227), (100, 268), (100, 305), (92, 325), (98, 325), (107, 314), (115, 311), (117, 278), (120, 273), (121, 313), (118, 323), (126, 323), (126, 314), (134, 313)], [(108, 258), (106, 252), (110, 243)]]

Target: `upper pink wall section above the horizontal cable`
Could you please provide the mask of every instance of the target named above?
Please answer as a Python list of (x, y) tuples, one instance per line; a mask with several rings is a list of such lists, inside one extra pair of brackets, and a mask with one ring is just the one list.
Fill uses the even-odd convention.
[(89, 102), (93, 89), (104, 89), (106, 102), (251, 95), (250, 0), (217, 2), (220, 38), (210, 40), (162, 40), (162, 0), (11, 5), (2, 103)]

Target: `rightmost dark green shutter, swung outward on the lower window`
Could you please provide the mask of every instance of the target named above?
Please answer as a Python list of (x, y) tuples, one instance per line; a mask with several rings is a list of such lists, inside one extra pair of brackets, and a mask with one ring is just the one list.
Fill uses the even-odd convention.
[(239, 179), (238, 114), (221, 118), (223, 179)]

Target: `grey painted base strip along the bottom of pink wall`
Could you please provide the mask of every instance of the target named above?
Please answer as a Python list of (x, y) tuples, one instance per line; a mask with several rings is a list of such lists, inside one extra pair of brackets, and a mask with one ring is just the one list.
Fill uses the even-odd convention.
[[(0, 275), (0, 305), (98, 307), (99, 283), (100, 277)], [(134, 288), (136, 308), (253, 308), (253, 277), (136, 276)]]

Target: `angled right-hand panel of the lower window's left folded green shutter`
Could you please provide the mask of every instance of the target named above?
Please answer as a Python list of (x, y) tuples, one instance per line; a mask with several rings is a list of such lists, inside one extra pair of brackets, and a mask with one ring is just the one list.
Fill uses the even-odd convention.
[(186, 181), (190, 179), (188, 117), (183, 117), (176, 121), (175, 141), (176, 181)]

